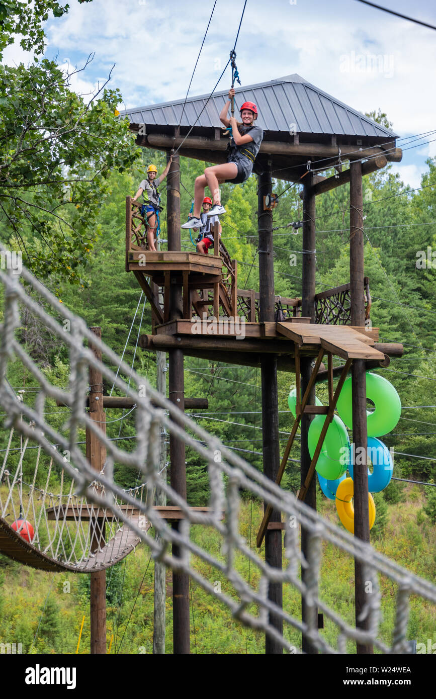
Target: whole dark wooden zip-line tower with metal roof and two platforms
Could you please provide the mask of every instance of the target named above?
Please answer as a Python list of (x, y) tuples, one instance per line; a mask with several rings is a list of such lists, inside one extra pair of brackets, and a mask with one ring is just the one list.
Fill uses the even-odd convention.
[[(144, 349), (169, 353), (169, 396), (184, 408), (183, 355), (246, 366), (260, 366), (262, 380), (263, 472), (280, 482), (298, 426), (301, 426), (301, 488), (298, 497), (316, 509), (314, 468), (328, 424), (333, 419), (340, 388), (351, 371), (353, 441), (367, 447), (365, 371), (388, 366), (389, 356), (401, 355), (402, 345), (378, 342), (378, 329), (369, 329), (370, 289), (363, 271), (363, 175), (388, 163), (400, 161), (395, 134), (310, 85), (299, 75), (272, 80), (236, 91), (236, 104), (254, 101), (259, 108), (258, 124), (264, 138), (254, 172), (259, 176), (259, 294), (238, 288), (238, 265), (215, 236), (214, 254), (182, 252), (180, 244), (180, 168), (178, 155), (203, 161), (226, 161), (228, 139), (221, 135), (219, 113), (227, 91), (183, 101), (129, 110), (131, 129), (137, 143), (166, 151), (178, 149), (168, 173), (168, 252), (148, 252), (138, 204), (126, 199), (126, 271), (133, 271), (152, 308), (152, 335), (140, 338)], [(180, 126), (180, 117), (182, 116)], [(194, 128), (191, 129), (194, 124)], [(188, 135), (189, 132), (189, 135)], [(319, 161), (335, 168), (330, 178), (314, 174)], [(349, 161), (349, 168), (343, 168)], [(301, 298), (282, 298), (289, 311), (286, 322), (275, 322), (279, 298), (274, 291), (273, 212), (268, 206), (273, 178), (303, 183), (303, 286)], [(350, 282), (342, 287), (315, 293), (316, 197), (349, 185)], [(267, 199), (266, 199), (267, 198)], [(267, 203), (266, 203), (267, 201)], [(163, 306), (159, 303), (163, 291)], [(245, 339), (221, 331), (213, 336), (192, 333), (191, 317), (203, 312), (214, 317), (245, 317)], [(333, 356), (342, 366), (333, 369)], [(326, 359), (325, 359), (326, 358)], [(322, 365), (326, 361), (327, 368)], [(284, 454), (279, 451), (277, 369), (296, 375), (297, 417)], [(333, 377), (339, 375), (336, 390)], [(316, 406), (315, 384), (328, 379), (327, 406)], [(301, 399), (300, 391), (301, 389)], [(314, 458), (307, 449), (307, 432), (315, 414), (327, 415)], [(186, 494), (184, 446), (170, 441), (171, 484)], [(354, 467), (355, 535), (369, 541), (367, 465)], [(257, 545), (265, 538), (266, 561), (282, 567), (281, 513), (266, 507)], [(303, 554), (307, 541), (302, 538)], [(177, 552), (175, 552), (177, 555)], [(303, 580), (305, 571), (302, 570)], [(365, 603), (361, 566), (356, 563), (356, 625)], [(173, 577), (175, 652), (189, 652), (189, 600), (187, 576)], [(268, 596), (282, 605), (282, 585), (270, 583)], [(307, 621), (313, 610), (302, 605)], [(282, 630), (282, 621), (270, 616)], [(316, 653), (303, 637), (303, 651)], [(358, 653), (372, 647), (358, 645)], [(266, 653), (281, 654), (282, 647), (266, 637)]]

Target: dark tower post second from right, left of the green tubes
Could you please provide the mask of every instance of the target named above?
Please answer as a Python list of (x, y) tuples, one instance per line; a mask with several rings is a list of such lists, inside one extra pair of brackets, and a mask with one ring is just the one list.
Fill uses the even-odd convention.
[[(315, 250), (315, 195), (313, 194), (313, 175), (306, 175), (303, 185), (303, 250)], [(306, 253), (302, 255), (302, 286), (301, 286), (301, 315), (310, 317), (312, 323), (315, 322), (315, 254)], [(305, 392), (309, 386), (312, 367), (310, 359), (302, 357), (301, 359), (301, 390)], [(310, 389), (307, 400), (307, 405), (315, 405), (315, 389)], [(310, 415), (301, 416), (301, 446), (300, 446), (300, 484), (304, 486), (307, 474), (310, 470), (309, 447), (307, 446), (307, 438), (310, 428)], [(317, 489), (316, 483), (312, 480), (310, 487), (307, 489), (306, 505), (317, 509)], [(309, 532), (301, 528), (301, 552), (305, 559), (308, 554)], [(306, 582), (307, 569), (301, 568), (301, 580)], [(305, 598), (301, 597), (301, 619), (303, 622), (308, 622), (312, 618), (312, 610), (307, 607)], [(307, 640), (303, 635), (302, 638), (303, 653), (317, 654), (318, 649), (314, 644)]]

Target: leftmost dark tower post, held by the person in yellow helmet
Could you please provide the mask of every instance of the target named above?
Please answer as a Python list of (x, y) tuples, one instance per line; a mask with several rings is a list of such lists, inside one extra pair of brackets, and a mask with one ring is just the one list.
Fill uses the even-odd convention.
[[(169, 157), (168, 157), (169, 159)], [(181, 250), (180, 229), (180, 158), (173, 157), (168, 172), (167, 185), (168, 250)], [(168, 292), (168, 315), (170, 320), (182, 317), (182, 288), (180, 284), (170, 284)], [(184, 410), (184, 370), (182, 349), (169, 352), (169, 398), (180, 410)], [(184, 442), (170, 433), (170, 484), (186, 499), (186, 466), (184, 462)], [(178, 521), (171, 523), (178, 529)], [(179, 547), (173, 545), (173, 556), (180, 558)], [(189, 654), (189, 576), (184, 572), (173, 571), (173, 644), (175, 654)]]

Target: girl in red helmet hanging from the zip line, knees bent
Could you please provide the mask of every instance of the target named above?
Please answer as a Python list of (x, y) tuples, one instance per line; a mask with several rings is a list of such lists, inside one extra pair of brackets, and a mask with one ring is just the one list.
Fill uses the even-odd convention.
[(244, 102), (240, 108), (242, 122), (235, 118), (228, 119), (228, 108), (231, 98), (235, 95), (233, 87), (228, 92), (228, 101), (224, 105), (219, 118), (224, 126), (232, 127), (230, 152), (225, 164), (205, 168), (204, 175), (196, 178), (194, 215), (182, 228), (199, 228), (201, 226), (200, 208), (205, 187), (208, 186), (213, 196), (213, 206), (208, 216), (220, 216), (226, 210), (221, 206), (219, 185), (222, 182), (232, 182), (233, 185), (245, 182), (252, 174), (254, 161), (259, 152), (263, 139), (263, 129), (254, 124), (257, 118), (257, 107), (253, 102)]

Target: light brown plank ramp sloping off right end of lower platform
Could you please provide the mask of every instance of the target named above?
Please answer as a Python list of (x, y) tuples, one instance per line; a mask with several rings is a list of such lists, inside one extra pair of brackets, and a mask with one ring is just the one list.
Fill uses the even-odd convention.
[(298, 347), (318, 345), (342, 359), (384, 359), (370, 336), (348, 325), (276, 323), (275, 328), (279, 335), (293, 340)]

